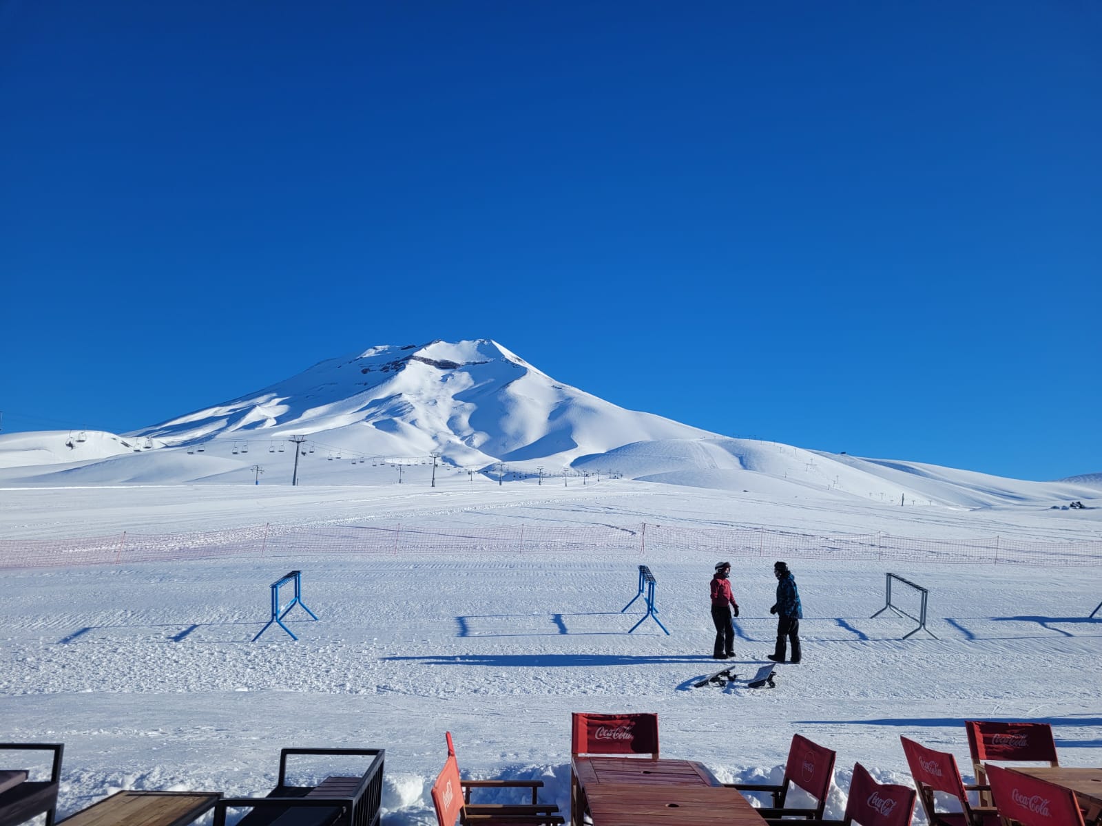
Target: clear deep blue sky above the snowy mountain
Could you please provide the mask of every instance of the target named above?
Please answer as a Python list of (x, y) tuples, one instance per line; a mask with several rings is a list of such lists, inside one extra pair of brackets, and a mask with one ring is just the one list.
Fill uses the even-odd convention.
[(719, 433), (1102, 471), (1102, 7), (0, 0), (3, 432), (494, 338)]

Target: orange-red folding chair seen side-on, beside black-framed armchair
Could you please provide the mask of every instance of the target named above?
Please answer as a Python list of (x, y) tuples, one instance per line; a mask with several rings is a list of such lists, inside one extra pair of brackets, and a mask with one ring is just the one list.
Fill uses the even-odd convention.
[[(455, 758), (452, 732), (445, 731), (447, 760), (432, 785), (432, 805), (436, 809), (439, 826), (455, 826), (458, 817), (463, 824), (486, 826), (561, 826), (564, 823), (554, 804), (537, 802), (536, 790), (541, 780), (461, 780), (460, 764)], [(471, 803), (472, 789), (531, 789), (531, 804)]]

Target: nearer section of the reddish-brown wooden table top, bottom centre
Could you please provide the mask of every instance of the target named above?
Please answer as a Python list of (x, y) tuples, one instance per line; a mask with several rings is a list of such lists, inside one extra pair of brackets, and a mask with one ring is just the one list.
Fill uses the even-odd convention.
[(585, 789), (593, 826), (763, 826), (735, 789), (597, 783)]

